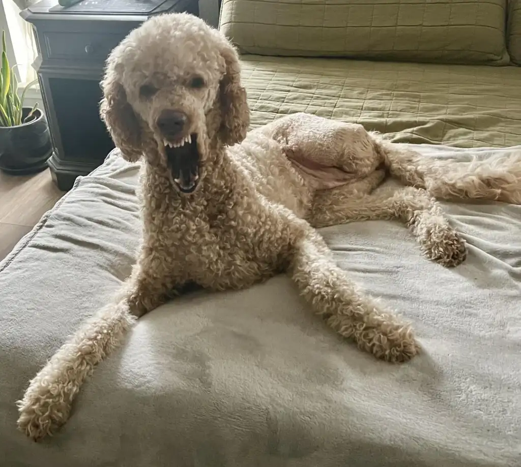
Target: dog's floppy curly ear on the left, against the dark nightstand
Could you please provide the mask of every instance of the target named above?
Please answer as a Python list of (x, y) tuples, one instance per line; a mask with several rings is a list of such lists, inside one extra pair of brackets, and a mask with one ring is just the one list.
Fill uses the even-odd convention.
[(109, 73), (102, 81), (102, 89), (101, 119), (121, 151), (121, 156), (129, 162), (135, 162), (143, 152), (141, 128), (132, 106), (127, 102), (125, 89)]

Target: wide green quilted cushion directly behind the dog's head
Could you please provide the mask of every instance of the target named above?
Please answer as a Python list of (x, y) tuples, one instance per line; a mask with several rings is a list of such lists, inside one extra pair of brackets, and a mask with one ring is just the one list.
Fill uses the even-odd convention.
[(506, 65), (507, 0), (223, 0), (242, 53)]

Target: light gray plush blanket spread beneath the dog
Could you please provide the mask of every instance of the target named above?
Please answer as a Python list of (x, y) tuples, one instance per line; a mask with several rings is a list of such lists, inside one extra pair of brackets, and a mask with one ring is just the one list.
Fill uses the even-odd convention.
[(278, 276), (146, 315), (67, 425), (27, 439), (15, 401), (130, 273), (137, 173), (110, 155), (0, 264), (2, 467), (521, 465), (521, 207), (499, 203), (445, 204), (469, 250), (453, 270), (397, 222), (322, 230), (340, 266), (414, 322), (412, 362), (356, 350)]

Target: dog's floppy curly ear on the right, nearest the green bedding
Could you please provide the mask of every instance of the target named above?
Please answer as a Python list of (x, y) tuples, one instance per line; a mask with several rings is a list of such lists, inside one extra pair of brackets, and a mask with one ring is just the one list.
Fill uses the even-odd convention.
[(240, 143), (246, 137), (250, 125), (250, 109), (246, 90), (241, 86), (239, 56), (231, 44), (224, 40), (221, 55), (225, 59), (226, 72), (220, 82), (222, 141), (229, 146)]

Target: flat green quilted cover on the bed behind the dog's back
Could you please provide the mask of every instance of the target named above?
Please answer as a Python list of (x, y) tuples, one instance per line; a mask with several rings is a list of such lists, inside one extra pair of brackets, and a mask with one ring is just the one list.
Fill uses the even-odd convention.
[(395, 142), (521, 143), (521, 68), (242, 57), (252, 127), (296, 111), (357, 122)]

